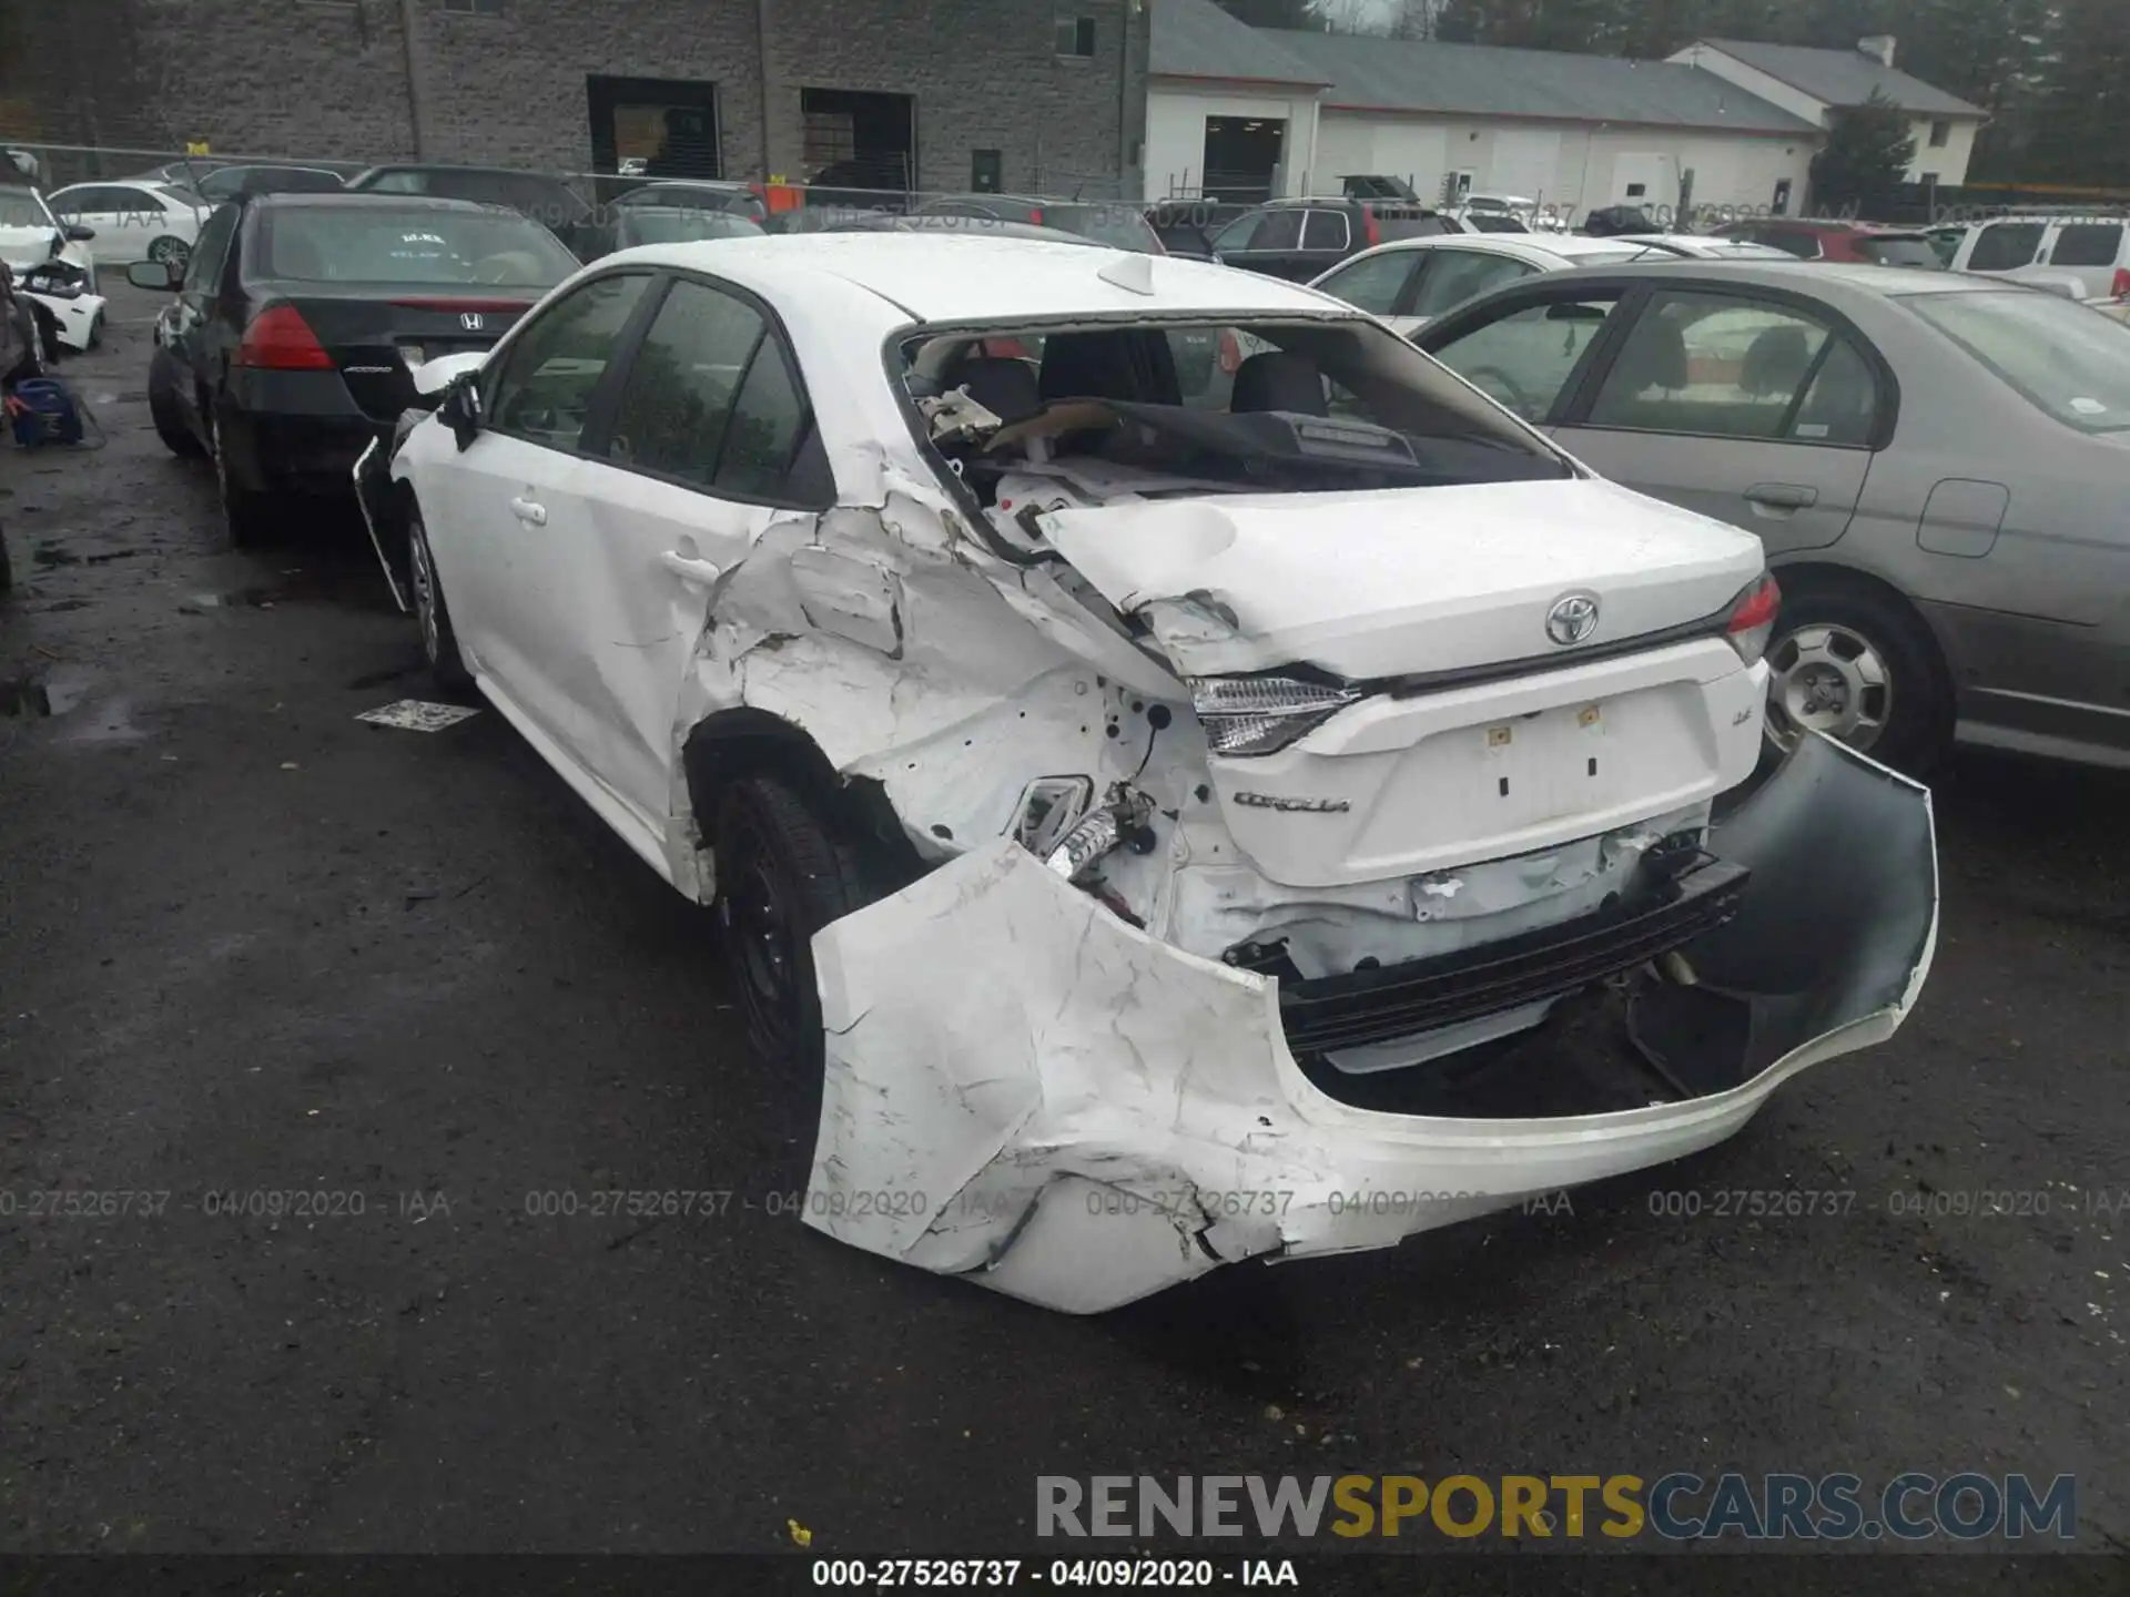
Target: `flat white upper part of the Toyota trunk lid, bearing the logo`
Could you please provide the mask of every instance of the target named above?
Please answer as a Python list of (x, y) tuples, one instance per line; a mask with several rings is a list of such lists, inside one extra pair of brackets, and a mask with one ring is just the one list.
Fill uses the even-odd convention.
[[(1566, 666), (1719, 613), (1764, 566), (1749, 532), (1595, 479), (1110, 505), (1042, 528), (1191, 677)], [(1546, 618), (1570, 594), (1598, 622), (1563, 647)]]

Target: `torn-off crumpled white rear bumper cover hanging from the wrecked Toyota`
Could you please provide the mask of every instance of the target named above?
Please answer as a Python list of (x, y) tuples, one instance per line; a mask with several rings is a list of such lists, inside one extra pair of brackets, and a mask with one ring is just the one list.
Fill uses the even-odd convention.
[(1721, 822), (1751, 871), (1632, 1014), (1674, 1103), (1453, 1120), (1304, 1075), (1278, 984), (1169, 948), (1016, 843), (814, 939), (826, 1080), (807, 1224), (1093, 1314), (1250, 1256), (1384, 1248), (1736, 1133), (1785, 1080), (1887, 1039), (1938, 926), (1930, 794), (1806, 739)]

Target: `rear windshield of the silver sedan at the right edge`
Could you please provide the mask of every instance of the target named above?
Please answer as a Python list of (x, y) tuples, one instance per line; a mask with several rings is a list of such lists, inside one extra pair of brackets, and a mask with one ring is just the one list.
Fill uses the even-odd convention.
[(2038, 290), (1902, 300), (2064, 426), (2130, 430), (2130, 326)]

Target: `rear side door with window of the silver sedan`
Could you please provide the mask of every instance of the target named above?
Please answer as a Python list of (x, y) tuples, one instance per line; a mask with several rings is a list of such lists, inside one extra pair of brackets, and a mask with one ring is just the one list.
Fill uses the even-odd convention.
[(1659, 287), (1555, 437), (1612, 481), (1742, 526), (1772, 556), (1849, 530), (1889, 402), (1877, 356), (1813, 302)]

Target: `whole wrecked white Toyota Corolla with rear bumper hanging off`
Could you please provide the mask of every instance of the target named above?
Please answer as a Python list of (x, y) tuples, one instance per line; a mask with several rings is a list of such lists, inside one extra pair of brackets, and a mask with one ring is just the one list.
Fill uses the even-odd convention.
[(1759, 543), (1329, 296), (728, 238), (452, 366), (364, 496), (422, 647), (718, 905), (829, 1235), (1069, 1312), (1382, 1248), (1706, 1148), (1923, 984), (1926, 790), (1815, 737), (1713, 820)]

